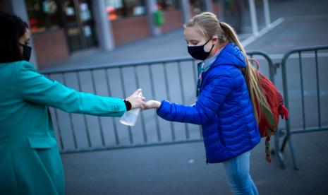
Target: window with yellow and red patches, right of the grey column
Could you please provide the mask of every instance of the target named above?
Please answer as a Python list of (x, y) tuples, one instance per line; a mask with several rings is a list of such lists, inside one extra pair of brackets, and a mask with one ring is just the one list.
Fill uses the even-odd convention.
[(106, 0), (105, 2), (109, 20), (146, 14), (145, 0)]

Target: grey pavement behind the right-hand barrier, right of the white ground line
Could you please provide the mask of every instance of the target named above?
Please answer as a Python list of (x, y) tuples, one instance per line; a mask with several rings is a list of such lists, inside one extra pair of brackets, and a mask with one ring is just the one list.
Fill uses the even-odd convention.
[[(328, 5), (327, 5), (328, 6)], [(328, 45), (328, 15), (283, 18), (276, 28), (259, 37), (246, 49), (284, 54), (296, 47)]]

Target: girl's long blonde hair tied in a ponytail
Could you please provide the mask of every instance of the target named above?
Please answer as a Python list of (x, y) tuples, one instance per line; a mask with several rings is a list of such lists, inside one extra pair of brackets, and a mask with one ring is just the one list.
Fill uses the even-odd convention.
[(262, 113), (262, 108), (265, 107), (269, 109), (269, 105), (265, 99), (265, 95), (262, 93), (257, 69), (248, 61), (245, 49), (243, 49), (241, 42), (238, 40), (235, 30), (233, 30), (233, 28), (227, 23), (220, 23), (217, 16), (210, 12), (204, 12), (193, 16), (193, 18), (183, 25), (183, 27), (185, 29), (189, 27), (196, 27), (207, 39), (217, 35), (220, 43), (224, 43), (226, 41), (233, 42), (239, 47), (239, 49), (241, 49), (246, 61), (246, 69), (243, 71), (243, 74), (248, 85), (250, 99), (252, 100), (253, 112), (258, 122), (259, 115)]

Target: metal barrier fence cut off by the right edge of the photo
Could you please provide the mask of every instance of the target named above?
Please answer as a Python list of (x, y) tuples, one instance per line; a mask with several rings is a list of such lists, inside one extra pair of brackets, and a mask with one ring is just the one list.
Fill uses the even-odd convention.
[[(326, 52), (324, 52), (324, 50), (326, 50)], [(295, 54), (297, 56), (295, 56)], [(324, 45), (321, 47), (304, 47), (292, 49), (291, 51), (287, 52), (286, 54), (284, 54), (284, 57), (281, 61), (284, 102), (289, 112), (293, 112), (293, 110), (296, 110), (296, 112), (293, 112), (293, 116), (291, 116), (290, 119), (286, 121), (286, 135), (284, 136), (284, 141), (281, 145), (280, 150), (276, 150), (279, 151), (279, 161), (281, 163), (282, 168), (285, 168), (282, 152), (284, 151), (286, 143), (288, 142), (289, 148), (291, 150), (294, 168), (296, 170), (299, 169), (293, 148), (293, 143), (291, 141), (291, 136), (293, 134), (303, 134), (313, 131), (328, 130), (327, 109), (322, 110), (322, 101), (326, 100), (325, 103), (327, 104), (328, 98), (320, 98), (321, 96), (324, 96), (324, 92), (326, 91), (327, 93), (328, 90), (328, 64), (327, 59), (320, 61), (318, 58), (320, 56), (324, 58), (328, 57), (327, 54), (328, 45)], [(293, 55), (294, 58), (292, 59), (291, 57)], [(308, 58), (305, 59), (305, 56), (307, 56)], [(322, 65), (321, 67), (320, 64)], [(322, 71), (320, 71), (320, 69)], [(295, 74), (295, 72), (299, 73)], [(288, 78), (287, 74), (292, 78)], [(299, 78), (297, 78), (296, 75), (299, 76)], [(306, 88), (310, 88), (311, 90), (306, 90)], [(312, 91), (312, 88), (315, 88), (315, 91)], [(294, 92), (299, 93), (300, 97), (298, 96), (297, 98), (296, 94), (293, 94), (293, 105), (290, 105), (289, 98), (291, 96), (289, 94)], [(307, 102), (307, 104), (305, 104), (305, 102)], [(300, 105), (300, 107), (298, 105)], [(300, 110), (298, 110), (299, 108)], [(309, 110), (311, 114), (305, 115), (306, 113), (308, 113), (307, 111)], [(300, 116), (297, 116), (297, 113), (300, 113)], [(293, 126), (291, 126), (291, 122), (293, 122)], [(300, 124), (297, 124), (297, 122), (300, 122)], [(276, 143), (276, 146), (279, 146), (279, 139), (276, 139), (276, 141), (278, 141)]]

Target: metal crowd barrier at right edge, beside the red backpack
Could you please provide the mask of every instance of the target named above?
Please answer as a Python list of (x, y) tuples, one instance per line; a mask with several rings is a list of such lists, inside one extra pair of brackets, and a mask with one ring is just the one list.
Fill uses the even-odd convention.
[[(319, 53), (320, 51), (324, 51), (326, 50), (325, 52), (321, 52)], [(295, 152), (294, 152), (294, 148), (293, 148), (293, 142), (291, 140), (291, 136), (293, 134), (303, 134), (303, 133), (308, 133), (308, 132), (313, 132), (313, 131), (327, 131), (328, 130), (328, 126), (327, 124), (324, 125), (322, 124), (322, 119), (324, 119), (324, 117), (322, 117), (322, 106), (320, 105), (320, 102), (322, 101), (322, 98), (320, 98), (320, 71), (319, 71), (319, 60), (318, 60), (318, 56), (319, 55), (322, 55), (322, 57), (328, 57), (328, 45), (324, 45), (324, 46), (319, 46), (319, 47), (303, 47), (303, 48), (297, 48), (297, 49), (292, 49), (291, 51), (287, 52), (286, 54), (284, 54), (284, 57), (281, 61), (281, 73), (282, 73), (282, 81), (283, 81), (283, 88), (284, 88), (284, 102), (285, 102), (285, 105), (286, 107), (288, 108), (288, 110), (291, 112), (290, 108), (291, 108), (291, 105), (290, 105), (290, 102), (289, 102), (289, 95), (288, 93), (291, 93), (293, 90), (291, 90), (291, 88), (288, 88), (288, 82), (291, 83), (291, 80), (293, 79), (296, 79), (296, 78), (287, 78), (287, 73), (288, 73), (288, 76), (292, 76), (293, 72), (296, 71), (296, 69), (299, 69), (299, 83), (300, 84), (300, 104), (301, 104), (301, 119), (298, 119), (298, 121), (300, 121), (302, 124), (300, 124), (300, 126), (291, 126), (291, 119), (293, 119), (293, 117), (296, 117), (296, 116), (291, 116), (290, 119), (288, 119), (286, 121), (286, 135), (284, 136), (284, 140), (281, 144), (281, 148), (280, 150), (277, 150), (276, 151), (279, 151), (278, 152), (278, 156), (279, 156), (279, 161), (281, 163), (281, 167), (282, 168), (285, 168), (285, 164), (284, 164), (284, 158), (283, 158), (283, 155), (282, 155), (282, 152), (284, 152), (284, 148), (286, 146), (286, 143), (288, 142), (288, 145), (289, 145), (289, 148), (291, 150), (291, 155), (292, 155), (292, 159), (293, 159), (293, 165), (294, 165), (294, 168), (296, 170), (299, 169), (298, 167), (298, 162), (296, 160), (296, 155), (295, 155)], [(296, 59), (298, 59), (298, 61), (291, 61), (291, 56), (295, 57), (296, 56)], [(303, 70), (305, 69), (305, 59), (304, 57), (305, 56), (308, 56), (310, 57), (310, 59), (313, 59), (314, 58), (314, 63), (313, 61), (310, 61), (310, 69), (309, 71), (307, 70)], [(289, 59), (289, 61), (288, 61)], [(294, 58), (295, 59), (295, 58)], [(287, 70), (288, 66), (291, 67), (291, 65), (295, 65), (293, 66), (292, 69), (289, 69)], [(298, 65), (298, 67), (297, 67)], [(327, 65), (327, 61), (326, 61), (326, 64), (324, 65)], [(305, 76), (306, 75), (309, 75), (310, 74), (310, 71), (311, 69), (315, 69), (315, 93), (316, 93), (316, 110), (317, 110), (317, 124), (307, 124), (307, 119), (306, 119), (306, 116), (305, 116), (305, 83), (308, 83), (308, 82), (313, 82), (312, 80), (313, 79), (308, 79), (308, 80), (305, 80)], [(324, 71), (321, 71), (321, 73), (326, 73), (325, 77), (327, 78), (327, 71), (324, 72)], [(295, 74), (294, 74), (295, 75)], [(310, 81), (309, 81), (310, 80)], [(327, 80), (326, 80), (326, 83), (327, 84)], [(295, 105), (296, 102), (293, 102), (293, 104)], [(311, 112), (311, 114), (313, 114)], [(326, 118), (327, 119), (327, 118)], [(279, 139), (276, 139), (276, 141), (278, 141), (276, 143), (277, 146), (279, 146)]]

